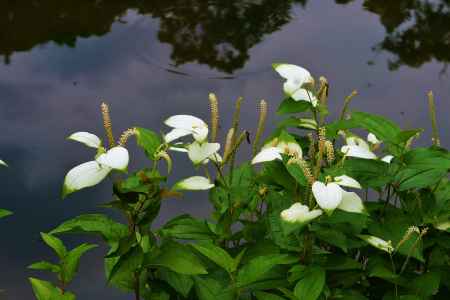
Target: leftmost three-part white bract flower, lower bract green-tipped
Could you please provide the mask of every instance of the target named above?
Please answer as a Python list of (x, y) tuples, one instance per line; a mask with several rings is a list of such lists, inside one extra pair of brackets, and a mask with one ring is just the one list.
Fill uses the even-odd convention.
[[(81, 142), (91, 148), (97, 148), (100, 152), (105, 151), (101, 147), (101, 140), (94, 134), (77, 132), (72, 134), (69, 139)], [(96, 145), (97, 147), (94, 147)], [(72, 168), (64, 178), (63, 198), (75, 191), (100, 183), (112, 170), (126, 171), (129, 160), (128, 150), (117, 146), (101, 153), (93, 161)]]

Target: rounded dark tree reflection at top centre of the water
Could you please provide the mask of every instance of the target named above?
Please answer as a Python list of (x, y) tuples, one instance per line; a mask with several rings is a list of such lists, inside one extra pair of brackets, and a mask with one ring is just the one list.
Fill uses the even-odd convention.
[(207, 64), (228, 73), (244, 66), (249, 49), (290, 20), (291, 1), (155, 1), (159, 40), (172, 45), (175, 65)]

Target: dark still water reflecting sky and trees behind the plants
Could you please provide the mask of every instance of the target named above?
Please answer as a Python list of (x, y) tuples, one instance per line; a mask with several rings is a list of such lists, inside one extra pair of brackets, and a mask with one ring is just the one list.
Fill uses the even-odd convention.
[[(357, 89), (353, 108), (408, 128), (430, 129), (425, 95), (433, 90), (450, 146), (449, 0), (1, 1), (0, 158), (10, 168), (0, 172), (0, 207), (15, 215), (0, 221), (0, 299), (33, 298), (27, 277), (41, 274), (26, 266), (51, 255), (40, 231), (103, 212), (98, 205), (109, 200), (108, 183), (60, 200), (67, 170), (93, 154), (65, 138), (103, 134), (100, 99), (119, 132), (160, 130), (178, 113), (207, 118), (210, 91), (230, 116), (244, 96), (242, 126), (251, 129), (257, 101), (264, 97), (273, 111), (282, 97), (270, 67), (280, 61), (326, 76), (333, 111)], [(424, 134), (421, 143), (428, 141)], [(130, 169), (145, 161), (140, 153), (131, 159)], [(180, 158), (175, 172), (193, 171)], [(165, 202), (158, 224), (208, 210), (204, 194), (189, 194)], [(79, 237), (65, 240), (75, 245)], [(106, 287), (104, 251), (82, 259), (71, 290), (82, 300), (131, 299)]]

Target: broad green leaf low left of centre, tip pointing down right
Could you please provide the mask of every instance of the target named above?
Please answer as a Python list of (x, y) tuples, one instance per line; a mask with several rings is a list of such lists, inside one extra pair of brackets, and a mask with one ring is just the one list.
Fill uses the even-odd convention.
[(167, 242), (159, 255), (150, 259), (150, 266), (163, 266), (185, 275), (208, 274), (200, 259), (186, 245)]

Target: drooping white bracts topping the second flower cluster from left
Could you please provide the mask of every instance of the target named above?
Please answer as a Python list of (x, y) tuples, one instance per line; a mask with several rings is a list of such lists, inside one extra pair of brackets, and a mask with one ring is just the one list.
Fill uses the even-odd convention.
[(208, 137), (208, 125), (203, 120), (194, 116), (175, 115), (165, 120), (164, 123), (173, 128), (164, 137), (166, 143), (191, 134), (198, 142), (203, 142)]

